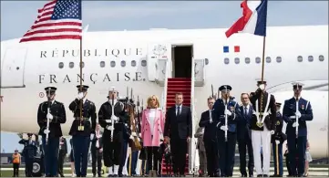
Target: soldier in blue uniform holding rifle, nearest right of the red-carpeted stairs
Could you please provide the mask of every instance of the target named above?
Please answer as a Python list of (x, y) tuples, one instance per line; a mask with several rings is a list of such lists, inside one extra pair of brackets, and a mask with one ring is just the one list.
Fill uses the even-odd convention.
[(236, 124), (241, 111), (238, 102), (230, 96), (231, 86), (220, 88), (221, 99), (217, 99), (213, 106), (213, 115), (217, 128), (218, 149), (220, 153), (220, 169), (222, 177), (233, 175), (233, 165), (236, 145)]

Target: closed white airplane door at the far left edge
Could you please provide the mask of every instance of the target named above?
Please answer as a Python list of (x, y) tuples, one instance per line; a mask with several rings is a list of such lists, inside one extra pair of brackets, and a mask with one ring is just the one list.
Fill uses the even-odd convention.
[(23, 88), (26, 48), (7, 48), (1, 65), (1, 88)]

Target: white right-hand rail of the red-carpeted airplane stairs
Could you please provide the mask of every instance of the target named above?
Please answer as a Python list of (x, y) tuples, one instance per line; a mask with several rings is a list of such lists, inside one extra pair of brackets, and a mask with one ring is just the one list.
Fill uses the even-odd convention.
[[(195, 133), (195, 128), (194, 128), (194, 125), (195, 125), (195, 107), (194, 107), (194, 103), (195, 103), (195, 100), (194, 100), (194, 83), (195, 83), (195, 60), (194, 60), (194, 57), (191, 58), (192, 59), (192, 65), (191, 65), (191, 78), (190, 78), (190, 111), (191, 111), (191, 115), (192, 115), (192, 133), (194, 135)], [(193, 155), (194, 151), (196, 148), (195, 145), (194, 145), (194, 141), (195, 141), (195, 138), (194, 136), (192, 135), (192, 138), (190, 138), (190, 153), (189, 153), (189, 170), (190, 172), (193, 171), (193, 168), (194, 168), (194, 162), (193, 162), (193, 158), (195, 155)]]

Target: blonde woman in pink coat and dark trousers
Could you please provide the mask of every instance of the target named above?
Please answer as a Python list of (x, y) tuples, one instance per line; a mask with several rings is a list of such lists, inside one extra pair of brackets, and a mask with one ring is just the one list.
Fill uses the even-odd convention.
[(155, 170), (158, 173), (158, 162), (160, 161), (158, 150), (160, 140), (163, 140), (164, 116), (162, 110), (159, 109), (159, 99), (157, 96), (150, 96), (147, 103), (148, 107), (146, 110), (143, 110), (142, 114), (141, 139), (143, 146), (148, 152), (147, 162), (149, 164), (149, 170)]

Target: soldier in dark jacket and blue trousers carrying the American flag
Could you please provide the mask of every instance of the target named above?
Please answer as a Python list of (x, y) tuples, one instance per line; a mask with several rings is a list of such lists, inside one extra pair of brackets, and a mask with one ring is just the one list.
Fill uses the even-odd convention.
[[(73, 156), (77, 177), (87, 176), (87, 155), (89, 151), (90, 139), (93, 139), (96, 128), (96, 107), (94, 102), (88, 100), (86, 85), (77, 86), (77, 99), (68, 106), (74, 113), (75, 120), (69, 135), (72, 136)], [(82, 110), (80, 110), (82, 108)]]

